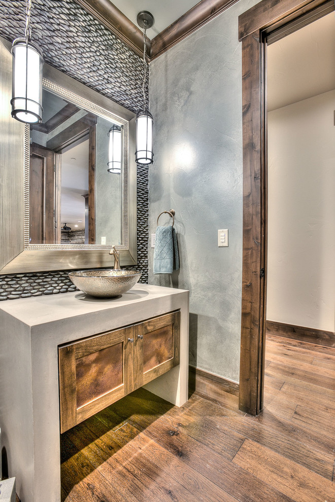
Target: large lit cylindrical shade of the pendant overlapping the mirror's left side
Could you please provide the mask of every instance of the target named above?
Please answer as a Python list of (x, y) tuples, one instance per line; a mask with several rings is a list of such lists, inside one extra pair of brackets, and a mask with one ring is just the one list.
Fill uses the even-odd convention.
[(26, 39), (16, 39), (12, 54), (12, 117), (31, 124), (42, 122), (42, 51)]

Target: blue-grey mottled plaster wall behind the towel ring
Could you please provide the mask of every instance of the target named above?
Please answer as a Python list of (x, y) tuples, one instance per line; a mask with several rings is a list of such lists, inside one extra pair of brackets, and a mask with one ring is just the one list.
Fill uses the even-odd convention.
[[(150, 249), (149, 282), (190, 290), (190, 364), (235, 381), (242, 289), (238, 16), (256, 3), (240, 0), (150, 67), (149, 233), (161, 211), (175, 209), (181, 265), (172, 278), (153, 275)], [(229, 247), (218, 247), (222, 228), (229, 230)]]

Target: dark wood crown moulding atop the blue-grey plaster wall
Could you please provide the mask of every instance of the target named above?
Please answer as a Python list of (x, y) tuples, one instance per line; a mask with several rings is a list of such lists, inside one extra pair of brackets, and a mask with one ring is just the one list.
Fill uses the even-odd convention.
[(168, 51), (239, 0), (201, 0), (151, 40), (150, 60)]

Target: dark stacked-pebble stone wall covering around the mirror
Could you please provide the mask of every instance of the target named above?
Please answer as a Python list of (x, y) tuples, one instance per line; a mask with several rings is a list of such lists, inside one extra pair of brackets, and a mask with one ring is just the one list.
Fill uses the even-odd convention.
[[(0, 35), (13, 41), (25, 27), (25, 0), (0, 0)], [(32, 40), (45, 61), (133, 112), (142, 106), (143, 63), (74, 0), (33, 0)], [(148, 173), (138, 169), (138, 266), (148, 281)], [(0, 300), (72, 288), (66, 272), (0, 276)], [(60, 286), (60, 287), (59, 287)], [(31, 293), (33, 292), (33, 293)]]

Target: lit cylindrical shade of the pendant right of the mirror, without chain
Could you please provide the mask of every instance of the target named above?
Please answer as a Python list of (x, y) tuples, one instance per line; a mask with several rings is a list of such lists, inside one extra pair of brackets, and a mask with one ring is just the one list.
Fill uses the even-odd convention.
[(137, 164), (153, 163), (153, 118), (150, 112), (139, 112), (136, 116), (136, 152)]

